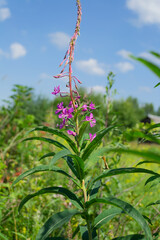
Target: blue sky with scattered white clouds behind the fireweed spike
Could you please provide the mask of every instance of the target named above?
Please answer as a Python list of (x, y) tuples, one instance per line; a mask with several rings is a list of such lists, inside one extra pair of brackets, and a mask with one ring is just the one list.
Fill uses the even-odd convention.
[[(0, 104), (14, 84), (53, 98), (76, 23), (76, 1), (0, 0)], [(81, 0), (82, 23), (75, 49), (74, 75), (89, 90), (104, 91), (116, 74), (117, 98), (137, 97), (160, 106), (159, 79), (128, 53), (160, 65), (148, 51), (160, 52), (160, 0)]]

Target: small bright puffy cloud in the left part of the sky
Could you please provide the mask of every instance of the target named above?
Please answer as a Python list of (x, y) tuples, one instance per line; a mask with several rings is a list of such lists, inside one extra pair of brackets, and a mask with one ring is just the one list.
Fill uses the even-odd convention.
[(20, 43), (13, 43), (10, 46), (11, 58), (17, 59), (26, 55), (27, 51), (23, 45)]

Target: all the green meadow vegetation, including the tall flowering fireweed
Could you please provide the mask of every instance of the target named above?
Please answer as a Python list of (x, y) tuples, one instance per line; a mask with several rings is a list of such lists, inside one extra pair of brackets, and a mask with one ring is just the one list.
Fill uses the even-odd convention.
[(64, 67), (54, 76), (67, 75), (69, 91), (55, 86), (50, 101), (15, 85), (0, 108), (0, 239), (158, 240), (160, 123), (140, 120), (160, 108), (114, 100), (112, 72), (105, 95), (78, 88), (79, 0), (77, 8)]

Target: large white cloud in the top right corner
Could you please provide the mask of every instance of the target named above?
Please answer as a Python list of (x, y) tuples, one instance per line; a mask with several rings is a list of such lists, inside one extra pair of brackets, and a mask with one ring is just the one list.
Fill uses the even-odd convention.
[(127, 0), (127, 7), (138, 15), (141, 24), (160, 24), (160, 0)]

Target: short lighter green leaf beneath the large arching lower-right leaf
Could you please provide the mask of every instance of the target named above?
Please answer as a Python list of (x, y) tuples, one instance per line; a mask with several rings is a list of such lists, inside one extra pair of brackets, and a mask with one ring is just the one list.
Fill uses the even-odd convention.
[(121, 214), (123, 211), (119, 208), (111, 208), (108, 210), (104, 210), (101, 214), (99, 214), (94, 219), (94, 228), (100, 228), (103, 224), (106, 224), (112, 218), (114, 218), (117, 214)]

